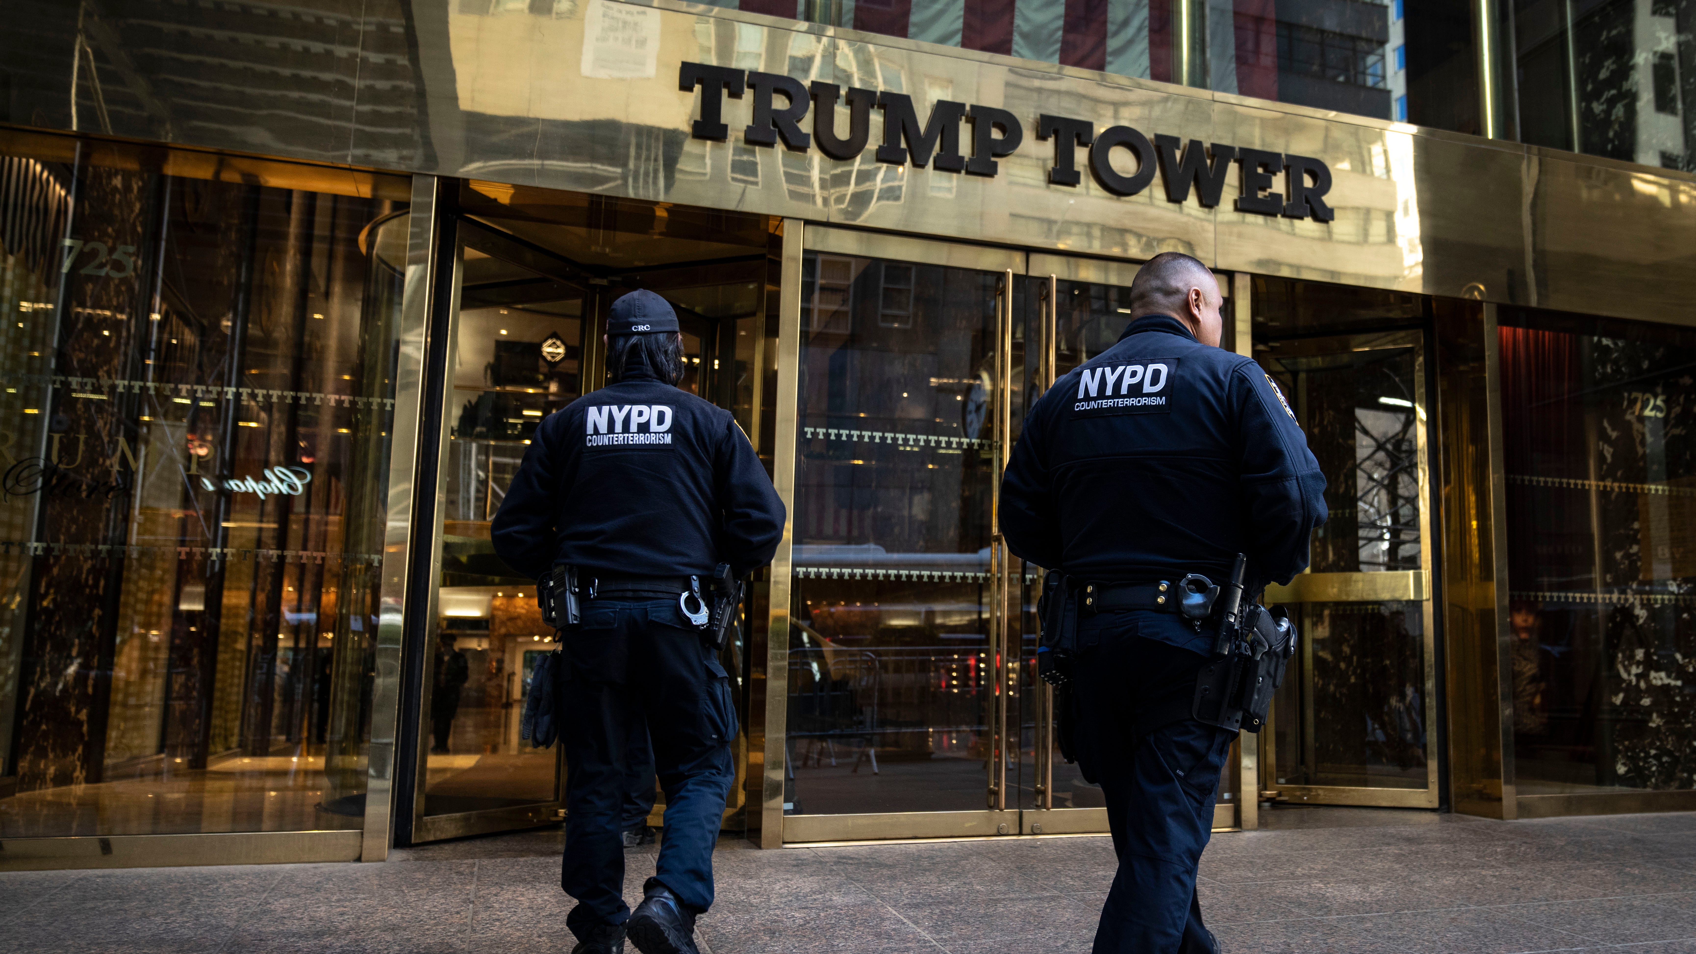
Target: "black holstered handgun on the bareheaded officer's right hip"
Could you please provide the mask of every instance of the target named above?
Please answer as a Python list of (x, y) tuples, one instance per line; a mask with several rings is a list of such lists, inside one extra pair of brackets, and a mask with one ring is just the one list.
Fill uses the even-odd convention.
[(1196, 676), (1191, 715), (1221, 728), (1260, 732), (1296, 654), (1296, 625), (1282, 606), (1243, 604), (1247, 565), (1238, 553), (1231, 579), (1219, 587), (1213, 654)]

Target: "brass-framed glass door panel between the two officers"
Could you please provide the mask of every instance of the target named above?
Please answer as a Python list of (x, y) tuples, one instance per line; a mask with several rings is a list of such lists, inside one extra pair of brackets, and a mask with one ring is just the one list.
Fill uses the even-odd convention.
[[(953, 817), (938, 817), (934, 833), (1004, 825), (958, 813), (996, 815), (1006, 801), (992, 513), (1007, 278), (804, 258), (790, 818)], [(914, 823), (924, 825), (909, 818), (906, 830)]]

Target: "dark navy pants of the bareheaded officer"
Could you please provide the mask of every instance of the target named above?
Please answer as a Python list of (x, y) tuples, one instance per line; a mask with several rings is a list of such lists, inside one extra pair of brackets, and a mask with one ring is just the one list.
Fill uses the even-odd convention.
[(1107, 798), (1119, 857), (1096, 954), (1216, 951), (1201, 923), (1196, 864), (1213, 835), (1213, 803), (1236, 733), (1180, 720), (1138, 737), (1148, 713), (1196, 691), (1206, 662), (1148, 638), (1172, 626), (1184, 623), (1152, 611), (1102, 613), (1079, 626), (1077, 759)]

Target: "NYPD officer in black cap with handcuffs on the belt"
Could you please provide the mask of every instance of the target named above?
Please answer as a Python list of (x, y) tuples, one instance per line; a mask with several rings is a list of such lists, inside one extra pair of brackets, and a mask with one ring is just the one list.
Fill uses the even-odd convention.
[[(682, 599), (717, 564), (770, 562), (784, 504), (729, 411), (675, 385), (677, 314), (631, 292), (607, 316), (614, 384), (536, 428), (494, 521), (495, 552), (531, 579), (577, 569), (580, 625), (561, 633), (565, 862), (573, 954), (694, 952), (712, 903), (712, 845), (736, 777), (729, 677)], [(690, 577), (695, 577), (694, 581)], [(622, 803), (646, 728), (665, 791), (656, 873), (624, 905)], [(634, 752), (634, 754), (633, 754)]]

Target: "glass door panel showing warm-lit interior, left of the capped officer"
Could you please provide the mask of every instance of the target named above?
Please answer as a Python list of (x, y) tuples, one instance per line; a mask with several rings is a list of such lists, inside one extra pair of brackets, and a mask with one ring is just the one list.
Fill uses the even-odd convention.
[(555, 648), (553, 630), (534, 581), (495, 555), (490, 521), (536, 426), (582, 394), (592, 299), (585, 285), (502, 255), (507, 246), (480, 226), (461, 226), (460, 238), (416, 842), (553, 818), (560, 783), (558, 750), (519, 740), (529, 674)]

